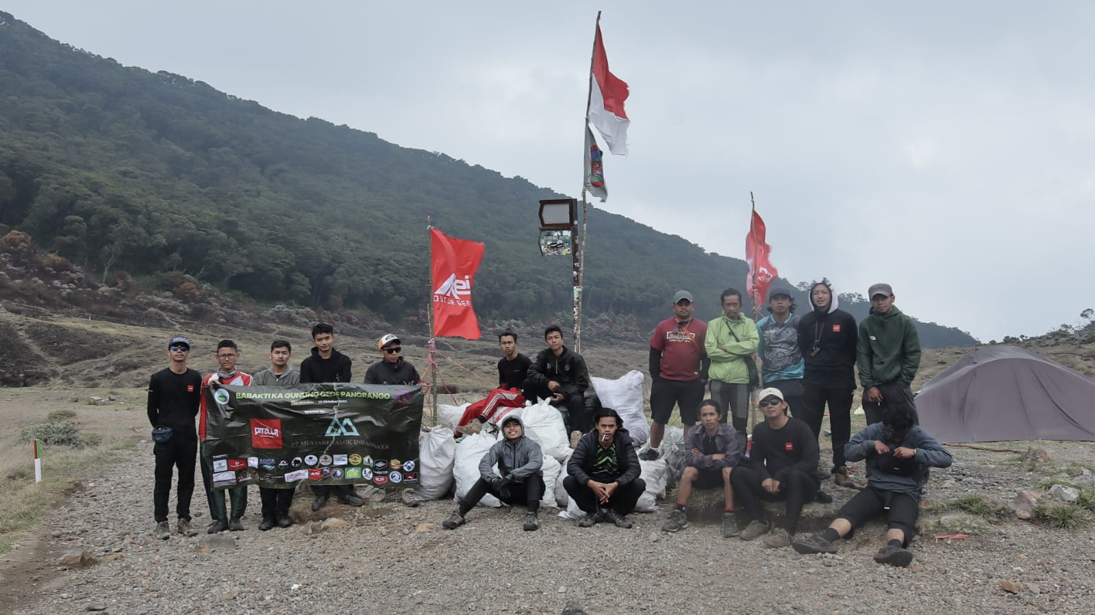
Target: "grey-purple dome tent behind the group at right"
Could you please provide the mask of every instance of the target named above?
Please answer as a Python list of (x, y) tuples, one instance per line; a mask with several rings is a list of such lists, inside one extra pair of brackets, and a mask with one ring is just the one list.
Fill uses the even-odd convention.
[(1029, 350), (981, 348), (917, 395), (941, 442), (1095, 440), (1095, 381)]

